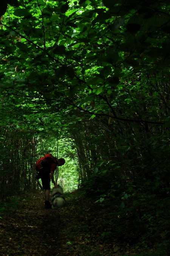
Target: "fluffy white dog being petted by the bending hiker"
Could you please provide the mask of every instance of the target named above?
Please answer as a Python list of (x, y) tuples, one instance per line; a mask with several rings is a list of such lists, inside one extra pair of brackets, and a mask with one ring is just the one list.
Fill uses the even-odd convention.
[(61, 186), (58, 185), (57, 188), (53, 188), (51, 198), (52, 209), (61, 208), (66, 205), (66, 201), (63, 195), (63, 188)]

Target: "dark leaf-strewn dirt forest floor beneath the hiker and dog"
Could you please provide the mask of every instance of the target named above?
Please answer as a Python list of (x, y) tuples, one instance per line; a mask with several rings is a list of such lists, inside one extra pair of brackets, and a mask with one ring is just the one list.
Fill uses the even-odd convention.
[[(20, 201), (0, 212), (0, 255), (4, 256), (128, 256), (144, 253), (139, 246), (123, 246), (111, 237), (111, 209), (77, 192), (67, 206), (45, 209), (43, 192), (23, 193)], [(128, 234), (127, 234), (128, 236)], [(108, 239), (107, 239), (108, 237)], [(124, 247), (124, 248), (122, 248)], [(159, 254), (161, 255), (161, 254)], [(162, 254), (162, 256), (164, 256)]]

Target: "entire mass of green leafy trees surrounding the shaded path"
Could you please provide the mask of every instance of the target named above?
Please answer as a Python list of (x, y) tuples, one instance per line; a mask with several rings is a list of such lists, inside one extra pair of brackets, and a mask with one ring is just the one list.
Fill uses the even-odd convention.
[(135, 230), (167, 239), (161, 207), (170, 193), (169, 8), (164, 0), (3, 1), (4, 198), (13, 175), (16, 189), (34, 187), (36, 159), (56, 155), (60, 140), (67, 160), (60, 183), (66, 191), (80, 183), (103, 207), (114, 201), (117, 239), (130, 232), (133, 244)]

